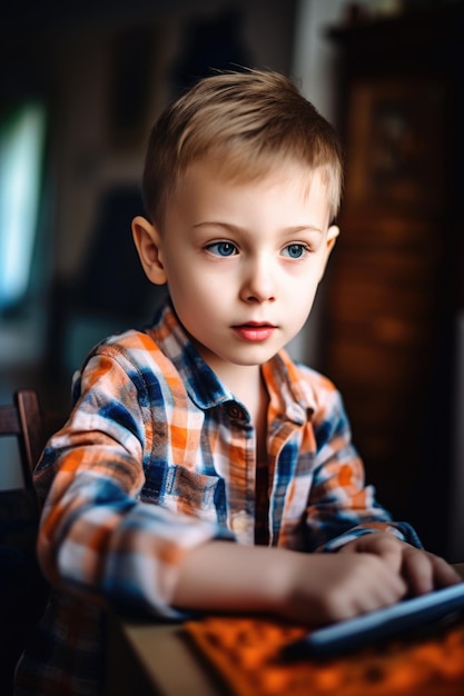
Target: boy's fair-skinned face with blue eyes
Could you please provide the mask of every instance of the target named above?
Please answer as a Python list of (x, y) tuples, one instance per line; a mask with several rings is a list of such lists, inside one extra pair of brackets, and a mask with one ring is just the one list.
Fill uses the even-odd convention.
[(219, 376), (228, 366), (261, 365), (296, 336), (338, 233), (329, 227), (327, 187), (318, 173), (308, 187), (296, 163), (250, 183), (196, 163), (162, 233), (145, 226), (151, 261), (156, 256), (155, 264), (142, 258), (145, 270), (168, 282), (180, 321)]

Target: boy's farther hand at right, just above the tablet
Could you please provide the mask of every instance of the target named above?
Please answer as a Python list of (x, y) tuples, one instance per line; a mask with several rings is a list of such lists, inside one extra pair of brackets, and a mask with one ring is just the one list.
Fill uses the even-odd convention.
[(379, 556), (403, 577), (412, 595), (423, 595), (462, 580), (454, 568), (440, 556), (415, 548), (386, 531), (366, 534), (347, 544), (339, 553)]

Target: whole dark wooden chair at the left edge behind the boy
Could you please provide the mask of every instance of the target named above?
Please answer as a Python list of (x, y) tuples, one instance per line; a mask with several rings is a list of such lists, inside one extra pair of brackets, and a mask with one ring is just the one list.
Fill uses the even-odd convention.
[[(0, 693), (10, 696), (16, 663), (48, 597), (36, 555), (40, 504), (32, 484), (48, 431), (34, 390), (20, 389), (0, 406), (2, 436), (17, 439), (23, 480), (21, 489), (0, 490)], [(18, 461), (3, 457), (0, 466)]]

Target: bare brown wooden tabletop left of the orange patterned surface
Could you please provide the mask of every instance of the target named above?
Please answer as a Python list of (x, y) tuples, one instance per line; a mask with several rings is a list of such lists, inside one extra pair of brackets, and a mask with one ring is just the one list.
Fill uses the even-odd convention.
[[(464, 563), (455, 564), (464, 578)], [(185, 639), (179, 624), (109, 616), (105, 696), (227, 696), (206, 659)]]

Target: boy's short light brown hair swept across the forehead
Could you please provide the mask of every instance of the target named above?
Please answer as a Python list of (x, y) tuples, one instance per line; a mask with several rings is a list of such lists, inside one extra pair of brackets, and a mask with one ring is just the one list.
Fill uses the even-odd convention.
[(251, 181), (276, 161), (320, 171), (337, 213), (343, 157), (330, 123), (287, 77), (227, 71), (199, 80), (155, 123), (142, 177), (146, 215), (162, 227), (169, 197), (188, 168), (214, 158), (228, 180)]

